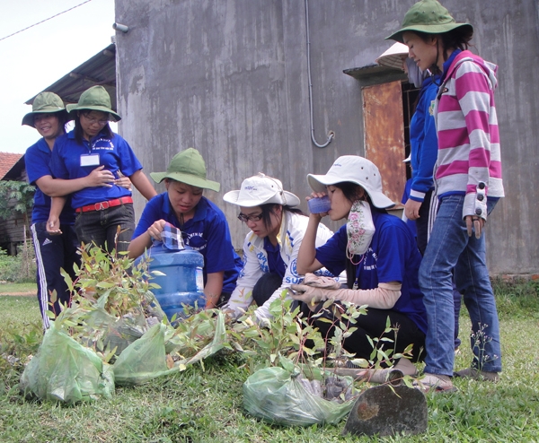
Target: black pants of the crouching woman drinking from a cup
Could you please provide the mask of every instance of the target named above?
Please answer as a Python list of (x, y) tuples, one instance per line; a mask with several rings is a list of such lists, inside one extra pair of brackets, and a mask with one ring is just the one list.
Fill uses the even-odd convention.
[[(316, 312), (322, 309), (322, 305), (322, 303), (318, 305)], [(344, 307), (339, 302), (336, 302), (330, 308), (324, 310), (323, 317), (326, 320), (331, 320), (331, 323), (320, 318), (309, 318), (308, 320), (310, 324), (318, 327), (320, 334), (324, 339), (327, 338), (328, 343), (335, 331), (332, 325), (333, 322), (337, 325), (340, 322), (339, 309), (344, 310)], [(305, 303), (302, 304), (302, 312), (304, 317), (309, 316), (311, 313)], [(398, 326), (397, 333), (392, 330), (388, 334), (384, 334), (387, 317), (389, 317), (391, 326)], [(355, 324), (349, 324), (349, 328), (352, 327), (357, 327), (358, 329), (344, 340), (343, 347), (347, 352), (355, 353), (355, 358), (357, 359), (371, 360), (373, 346), (369, 343), (367, 337), (372, 340), (382, 337), (393, 340), (393, 342), (374, 342), (377, 349), (384, 349), (385, 351), (393, 349), (393, 353), (403, 352), (407, 346), (413, 343), (411, 361), (422, 361), (425, 358), (425, 352), (423, 351), (425, 349), (425, 334), (409, 317), (400, 312), (392, 309), (367, 308), (367, 315), (356, 318)], [(376, 360), (376, 357), (374, 360)]]

